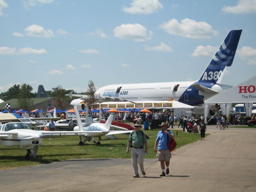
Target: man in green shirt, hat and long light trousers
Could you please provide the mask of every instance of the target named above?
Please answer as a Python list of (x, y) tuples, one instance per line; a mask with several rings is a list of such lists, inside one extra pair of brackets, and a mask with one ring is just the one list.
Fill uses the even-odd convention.
[(135, 124), (134, 125), (135, 130), (130, 133), (130, 136), (128, 138), (128, 144), (126, 153), (129, 154), (129, 148), (132, 147), (132, 166), (134, 170), (134, 178), (140, 177), (138, 172), (138, 164), (140, 166), (140, 171), (143, 175), (146, 175), (144, 171), (144, 165), (143, 165), (143, 146), (145, 144), (145, 154), (148, 153), (148, 143), (147, 138), (144, 132), (140, 130), (142, 128), (141, 125)]

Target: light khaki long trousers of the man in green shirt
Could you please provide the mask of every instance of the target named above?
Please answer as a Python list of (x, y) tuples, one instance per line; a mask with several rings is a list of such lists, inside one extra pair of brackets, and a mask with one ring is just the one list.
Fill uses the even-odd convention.
[(140, 171), (144, 171), (144, 165), (143, 165), (143, 148), (141, 149), (135, 149), (132, 148), (132, 166), (134, 170), (134, 174), (139, 174), (138, 172), (138, 164), (140, 166)]

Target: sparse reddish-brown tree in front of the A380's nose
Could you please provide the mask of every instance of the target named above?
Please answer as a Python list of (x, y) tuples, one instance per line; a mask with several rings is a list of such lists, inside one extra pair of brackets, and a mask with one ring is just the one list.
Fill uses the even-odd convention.
[(95, 92), (96, 92), (96, 88), (94, 86), (94, 83), (92, 82), (92, 80), (89, 80), (88, 88), (87, 88), (87, 95), (88, 95), (87, 104), (92, 109), (99, 108), (100, 94), (95, 94)]

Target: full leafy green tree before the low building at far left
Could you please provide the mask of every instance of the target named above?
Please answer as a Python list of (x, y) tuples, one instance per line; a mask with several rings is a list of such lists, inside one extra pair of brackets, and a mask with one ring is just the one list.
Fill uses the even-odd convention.
[(22, 84), (20, 86), (20, 92), (18, 94), (18, 101), (17, 104), (20, 108), (25, 109), (25, 110), (31, 110), (31, 107), (33, 105), (33, 101), (31, 99), (31, 91), (32, 91), (32, 86), (29, 84)]

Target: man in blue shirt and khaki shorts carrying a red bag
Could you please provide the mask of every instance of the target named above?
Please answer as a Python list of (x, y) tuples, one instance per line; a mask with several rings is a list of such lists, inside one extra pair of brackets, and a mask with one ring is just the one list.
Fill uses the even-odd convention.
[[(160, 176), (165, 176), (165, 173), (167, 175), (169, 174), (170, 158), (172, 156), (167, 146), (167, 136), (169, 137), (169, 140), (170, 138), (174, 139), (174, 136), (172, 131), (166, 130), (168, 126), (166, 122), (162, 122), (162, 124), (159, 126), (161, 126), (162, 130), (159, 131), (157, 134), (154, 151), (155, 153), (157, 152), (156, 156), (158, 157), (158, 161), (160, 161), (160, 165), (162, 169), (162, 174), (160, 174)], [(165, 170), (164, 163), (166, 165), (166, 170)]]

